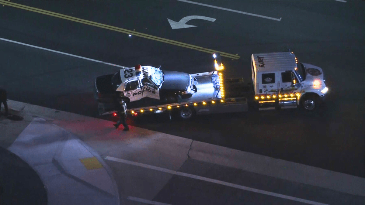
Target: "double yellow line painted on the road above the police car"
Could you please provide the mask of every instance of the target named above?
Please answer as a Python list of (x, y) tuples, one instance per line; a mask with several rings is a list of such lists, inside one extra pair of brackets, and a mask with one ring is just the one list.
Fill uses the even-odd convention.
[(240, 58), (238, 55), (234, 55), (234, 54), (230, 54), (230, 53), (224, 53), (224, 52), (221, 52), (221, 51), (206, 49), (206, 48), (203, 48), (203, 47), (199, 47), (199, 46), (195, 46), (195, 45), (191, 45), (191, 44), (187, 44), (187, 43), (182, 43), (182, 42), (178, 42), (178, 41), (175, 41), (175, 40), (169, 40), (169, 39), (160, 38), (160, 37), (157, 37), (157, 36), (152, 36), (152, 35), (136, 32), (136, 31), (127, 30), (127, 29), (124, 29), (124, 28), (109, 26), (109, 25), (102, 24), (102, 23), (96, 23), (96, 22), (92, 22), (92, 21), (88, 21), (88, 20), (84, 20), (84, 19), (75, 18), (75, 17), (72, 17), (72, 16), (63, 15), (61, 13), (55, 13), (55, 12), (46, 11), (46, 10), (39, 9), (39, 8), (28, 7), (28, 6), (22, 5), (22, 4), (12, 3), (12, 2), (9, 2), (9, 1), (0, 0), (0, 4), (7, 5), (7, 6), (10, 6), (10, 7), (24, 9), (24, 10), (27, 10), (27, 11), (42, 13), (42, 14), (45, 14), (45, 15), (70, 20), (70, 21), (73, 21), (73, 22), (83, 23), (83, 24), (87, 24), (87, 25), (90, 25), (90, 26), (96, 26), (96, 27), (99, 27), (99, 28), (105, 28), (105, 29), (108, 29), (108, 30), (117, 31), (117, 32), (125, 33), (125, 34), (131, 34), (131, 35), (139, 36), (139, 37), (142, 37), (142, 38), (147, 38), (147, 39), (159, 41), (159, 42), (162, 42), (162, 43), (168, 43), (168, 44), (175, 45), (175, 46), (181, 46), (181, 47), (185, 47), (187, 49), (193, 49), (193, 50), (202, 51), (202, 52), (205, 52), (205, 53), (215, 53), (215, 52), (217, 53), (217, 52), (219, 52), (220, 55), (223, 56), (223, 57), (228, 57), (228, 58), (232, 58), (232, 59), (239, 59)]

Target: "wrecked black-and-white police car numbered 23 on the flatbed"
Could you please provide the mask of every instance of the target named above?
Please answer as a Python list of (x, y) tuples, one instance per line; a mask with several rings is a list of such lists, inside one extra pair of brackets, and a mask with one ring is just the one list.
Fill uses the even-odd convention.
[(99, 102), (111, 102), (120, 96), (127, 102), (133, 102), (147, 97), (174, 103), (197, 92), (196, 84), (196, 78), (188, 73), (137, 65), (97, 77), (95, 98)]

